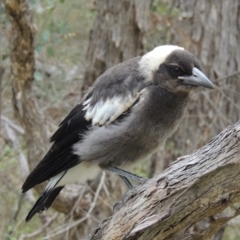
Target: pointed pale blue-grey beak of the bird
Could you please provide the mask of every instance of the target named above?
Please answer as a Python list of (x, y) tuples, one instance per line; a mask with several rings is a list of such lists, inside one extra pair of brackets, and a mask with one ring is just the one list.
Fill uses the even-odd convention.
[(184, 85), (202, 86), (206, 88), (214, 88), (213, 83), (199, 69), (193, 68), (191, 76), (181, 76)]

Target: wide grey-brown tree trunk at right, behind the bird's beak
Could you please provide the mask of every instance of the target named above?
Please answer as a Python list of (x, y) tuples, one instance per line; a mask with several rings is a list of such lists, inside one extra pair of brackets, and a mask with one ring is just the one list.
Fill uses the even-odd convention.
[(182, 155), (240, 118), (240, 1), (178, 0), (176, 8), (179, 16), (171, 26), (172, 42), (197, 56), (216, 85), (215, 91), (194, 96), (172, 138)]

